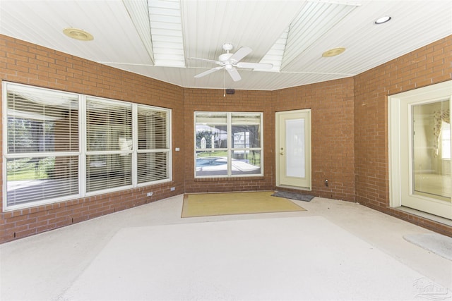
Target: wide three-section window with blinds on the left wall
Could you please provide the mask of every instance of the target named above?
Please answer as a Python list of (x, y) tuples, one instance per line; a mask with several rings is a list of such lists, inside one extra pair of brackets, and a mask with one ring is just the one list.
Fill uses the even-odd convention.
[(5, 210), (171, 180), (170, 110), (3, 87)]

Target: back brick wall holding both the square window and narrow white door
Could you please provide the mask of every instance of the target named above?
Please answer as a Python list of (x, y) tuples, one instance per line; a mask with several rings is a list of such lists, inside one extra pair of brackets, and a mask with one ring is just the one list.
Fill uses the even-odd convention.
[[(275, 189), (275, 112), (311, 109), (311, 195), (355, 199), (353, 79), (333, 80), (274, 92), (185, 90), (186, 192)], [(194, 178), (194, 111), (263, 111), (263, 178)], [(326, 187), (323, 180), (328, 179)]]

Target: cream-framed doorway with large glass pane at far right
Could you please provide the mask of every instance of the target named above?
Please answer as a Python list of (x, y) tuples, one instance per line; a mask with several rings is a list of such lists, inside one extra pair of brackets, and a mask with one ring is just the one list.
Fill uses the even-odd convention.
[(452, 219), (452, 82), (389, 97), (391, 207)]

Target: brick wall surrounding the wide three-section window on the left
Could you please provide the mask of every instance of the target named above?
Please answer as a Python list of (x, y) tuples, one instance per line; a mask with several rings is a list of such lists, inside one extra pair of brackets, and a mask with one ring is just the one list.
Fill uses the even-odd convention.
[[(184, 119), (184, 90), (176, 85), (4, 35), (0, 35), (0, 80), (166, 107), (172, 109), (173, 145), (184, 136), (184, 124), (179, 122)], [(173, 166), (171, 183), (0, 213), (0, 243), (179, 195), (185, 190), (184, 174), (179, 172), (184, 166), (182, 152), (173, 152)], [(146, 197), (148, 191), (154, 195)]]

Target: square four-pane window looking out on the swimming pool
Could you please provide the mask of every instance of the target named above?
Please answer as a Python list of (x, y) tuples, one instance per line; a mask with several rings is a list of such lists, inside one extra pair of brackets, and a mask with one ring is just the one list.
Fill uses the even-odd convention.
[(195, 177), (262, 176), (262, 113), (195, 112)]

